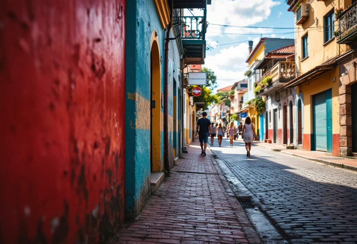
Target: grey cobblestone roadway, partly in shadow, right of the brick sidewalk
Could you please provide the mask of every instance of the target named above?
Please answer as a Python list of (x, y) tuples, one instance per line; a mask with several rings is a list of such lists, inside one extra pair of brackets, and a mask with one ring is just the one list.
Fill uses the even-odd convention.
[(236, 194), (248, 197), (250, 209), (262, 212), (287, 242), (357, 243), (356, 172), (257, 146), (247, 157), (244, 143), (229, 147), (228, 139), (222, 147), (215, 139), (211, 150), (247, 188), (236, 186)]

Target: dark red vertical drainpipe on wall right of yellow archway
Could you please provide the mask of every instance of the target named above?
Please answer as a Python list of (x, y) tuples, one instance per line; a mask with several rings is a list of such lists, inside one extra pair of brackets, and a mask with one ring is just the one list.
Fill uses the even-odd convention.
[(170, 1), (170, 24), (167, 26), (165, 40), (165, 84), (164, 84), (164, 166), (165, 170), (170, 174), (170, 158), (169, 158), (169, 107), (168, 107), (168, 86), (169, 86), (169, 42), (170, 30), (172, 27), (173, 0)]

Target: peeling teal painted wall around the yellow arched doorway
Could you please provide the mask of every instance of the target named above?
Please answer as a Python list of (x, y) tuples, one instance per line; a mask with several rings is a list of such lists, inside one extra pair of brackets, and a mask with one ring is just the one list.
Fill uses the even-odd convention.
[[(164, 30), (161, 29), (154, 2), (127, 0), (126, 13), (126, 113), (125, 113), (125, 194), (126, 215), (135, 217), (150, 196), (150, 129), (137, 128), (140, 111), (132, 94), (150, 100), (150, 39), (152, 31), (159, 37), (162, 56), (161, 73), (164, 71)], [(164, 91), (164, 76), (161, 75)], [(163, 111), (163, 109), (161, 109)], [(164, 138), (164, 134), (161, 135)], [(163, 145), (162, 145), (163, 149)]]

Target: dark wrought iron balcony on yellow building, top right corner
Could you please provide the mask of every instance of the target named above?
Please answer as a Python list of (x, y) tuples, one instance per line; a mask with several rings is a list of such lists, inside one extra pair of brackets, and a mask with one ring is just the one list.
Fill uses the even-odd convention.
[(334, 32), (338, 44), (350, 44), (357, 40), (357, 2), (338, 16), (338, 32)]

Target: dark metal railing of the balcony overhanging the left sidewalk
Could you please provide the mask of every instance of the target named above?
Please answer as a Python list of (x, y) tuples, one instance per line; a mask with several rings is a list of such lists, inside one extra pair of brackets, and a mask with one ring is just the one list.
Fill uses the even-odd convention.
[(181, 17), (182, 39), (205, 40), (207, 22), (205, 16)]

